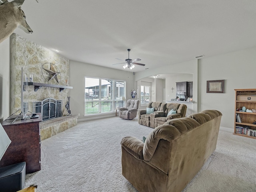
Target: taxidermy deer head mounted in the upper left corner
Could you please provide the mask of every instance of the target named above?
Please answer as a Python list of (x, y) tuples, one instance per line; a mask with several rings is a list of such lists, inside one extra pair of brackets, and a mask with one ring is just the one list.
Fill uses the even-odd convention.
[[(38, 2), (38, 0), (36, 0)], [(18, 27), (31, 34), (33, 30), (26, 22), (26, 16), (21, 9), (24, 0), (0, 0), (0, 43), (8, 38)]]

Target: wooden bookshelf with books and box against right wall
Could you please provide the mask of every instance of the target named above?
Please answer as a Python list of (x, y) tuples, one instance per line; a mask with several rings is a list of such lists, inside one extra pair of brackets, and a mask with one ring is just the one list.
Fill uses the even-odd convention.
[[(256, 139), (256, 124), (253, 124), (256, 122), (256, 112), (240, 111), (243, 106), (246, 109), (256, 110), (256, 89), (235, 89), (234, 112), (234, 134)], [(238, 121), (236, 114), (239, 115), (241, 122)], [(248, 135), (248, 130), (249, 133), (252, 132), (252, 135)]]

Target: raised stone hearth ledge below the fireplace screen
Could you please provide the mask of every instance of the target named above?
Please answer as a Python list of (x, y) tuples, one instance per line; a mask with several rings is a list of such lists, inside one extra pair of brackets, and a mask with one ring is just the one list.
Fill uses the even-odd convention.
[(50, 138), (51, 136), (76, 126), (77, 118), (78, 115), (69, 115), (40, 122), (41, 140)]

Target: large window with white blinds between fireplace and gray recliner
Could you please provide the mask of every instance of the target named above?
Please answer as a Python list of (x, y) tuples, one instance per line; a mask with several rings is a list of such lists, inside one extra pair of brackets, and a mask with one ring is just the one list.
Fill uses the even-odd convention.
[(85, 77), (84, 114), (114, 112), (125, 105), (119, 100), (126, 96), (125, 90), (125, 81)]

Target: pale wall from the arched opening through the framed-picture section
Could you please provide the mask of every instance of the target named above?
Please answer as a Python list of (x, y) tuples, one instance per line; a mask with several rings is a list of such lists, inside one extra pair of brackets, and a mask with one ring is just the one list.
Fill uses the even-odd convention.
[[(221, 126), (234, 128), (234, 89), (256, 88), (256, 47), (227, 54), (191, 60), (180, 64), (138, 72), (135, 81), (154, 74), (193, 74), (193, 110), (216, 109), (222, 112)], [(207, 80), (225, 80), (225, 93), (206, 93)], [(166, 80), (166, 92), (168, 92)], [(166, 98), (166, 100), (168, 100)], [(197, 107), (197, 109), (196, 109)]]

